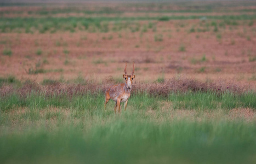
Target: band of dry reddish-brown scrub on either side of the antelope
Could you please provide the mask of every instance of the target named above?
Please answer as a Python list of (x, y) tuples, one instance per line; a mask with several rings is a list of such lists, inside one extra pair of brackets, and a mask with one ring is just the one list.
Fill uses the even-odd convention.
[[(105, 84), (96, 84), (92, 81), (87, 81), (86, 85), (82, 84), (65, 84), (55, 83), (51, 85), (40, 85), (39, 83), (30, 82), (25, 83), (20, 88), (15, 89), (12, 85), (5, 85), (0, 88), (0, 95), (7, 96), (11, 93), (25, 97), (31, 92), (45, 93), (47, 96), (51, 95), (83, 95), (84, 93), (103, 93), (107, 87), (116, 84), (113, 78), (106, 79)], [(249, 91), (248, 85), (236, 83), (235, 81), (219, 80), (209, 83), (197, 81), (188, 78), (172, 78), (164, 81), (164, 83), (135, 83), (133, 84), (132, 93), (147, 92), (153, 96), (168, 96), (170, 92), (186, 92), (186, 91), (213, 91), (222, 93), (224, 91), (243, 93)]]

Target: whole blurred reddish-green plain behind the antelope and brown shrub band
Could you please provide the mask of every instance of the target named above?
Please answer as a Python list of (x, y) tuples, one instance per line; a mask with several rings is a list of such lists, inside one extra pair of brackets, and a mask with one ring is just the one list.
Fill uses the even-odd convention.
[[(0, 1), (1, 78), (255, 87), (256, 1)], [(50, 79), (50, 80), (49, 80)]]

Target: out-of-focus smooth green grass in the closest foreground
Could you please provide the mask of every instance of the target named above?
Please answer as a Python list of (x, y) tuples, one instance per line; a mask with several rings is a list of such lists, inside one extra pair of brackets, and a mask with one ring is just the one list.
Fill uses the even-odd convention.
[[(135, 115), (125, 114), (121, 118), (110, 116), (111, 121), (106, 120), (103, 125), (94, 123), (89, 129), (86, 128), (87, 121), (78, 119), (78, 125), (68, 120), (70, 126), (59, 125), (54, 133), (47, 130), (50, 127), (43, 127), (43, 121), (39, 124), (39, 128), (32, 126), (27, 133), (14, 132), (12, 135), (4, 133), (0, 141), (1, 148), (5, 148), (0, 150), (1, 161), (4, 163), (10, 161), (253, 163), (255, 161), (252, 157), (255, 155), (253, 137), (255, 124), (214, 122), (214, 120), (203, 120), (199, 123), (165, 119), (157, 125), (150, 119), (145, 119), (145, 122), (141, 122), (143, 119), (136, 121), (138, 116), (135, 120), (126, 121), (131, 116)], [(63, 117), (60, 113), (48, 112), (39, 120)], [(101, 117), (93, 116), (93, 120), (97, 118)], [(25, 119), (30, 120), (26, 116)], [(124, 147), (126, 149), (123, 149)]]

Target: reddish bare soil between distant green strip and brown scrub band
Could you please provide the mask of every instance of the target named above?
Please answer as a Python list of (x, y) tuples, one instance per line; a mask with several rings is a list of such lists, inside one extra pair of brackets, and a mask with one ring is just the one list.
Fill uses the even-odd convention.
[[(78, 75), (98, 80), (110, 75), (121, 79), (124, 63), (128, 62), (131, 72), (134, 61), (139, 81), (183, 75), (200, 80), (235, 79), (256, 87), (255, 21), (252, 26), (248, 21), (237, 21), (237, 26), (219, 28), (218, 32), (213, 32), (213, 27), (209, 32), (189, 32), (191, 27), (199, 27), (200, 20), (151, 22), (156, 23), (156, 32), (0, 33), (0, 75), (39, 82)], [(155, 40), (158, 35), (162, 35), (160, 42)], [(180, 51), (181, 46), (184, 51)], [(12, 56), (3, 55), (7, 48), (12, 50)], [(40, 55), (38, 49), (42, 51)], [(36, 65), (47, 73), (28, 74), (29, 68), (36, 69)]]

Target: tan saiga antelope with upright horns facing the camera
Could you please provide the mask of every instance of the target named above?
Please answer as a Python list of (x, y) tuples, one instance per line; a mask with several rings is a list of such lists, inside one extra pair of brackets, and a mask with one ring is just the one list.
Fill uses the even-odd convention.
[[(127, 66), (127, 64), (126, 64), (126, 66)], [(134, 62), (133, 62), (132, 74), (130, 74), (130, 75), (127, 74), (126, 67), (124, 68), (124, 73), (125, 74), (123, 74), (123, 78), (126, 80), (126, 83), (110, 86), (106, 90), (105, 110), (106, 110), (106, 104), (107, 104), (107, 102), (109, 102), (110, 99), (113, 99), (113, 101), (116, 102), (115, 113), (116, 113), (116, 108), (118, 108), (118, 113), (120, 113), (120, 102), (125, 102), (124, 110), (126, 110), (127, 102), (130, 97), (130, 91), (132, 90), (132, 81), (135, 78), (135, 75), (133, 74), (134, 73)]]

